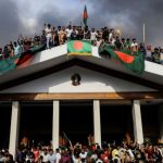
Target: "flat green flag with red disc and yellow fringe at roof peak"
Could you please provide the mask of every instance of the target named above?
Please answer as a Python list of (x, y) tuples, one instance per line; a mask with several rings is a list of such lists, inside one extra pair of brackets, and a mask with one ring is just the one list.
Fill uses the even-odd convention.
[(85, 40), (70, 40), (67, 41), (67, 53), (91, 55), (91, 43)]

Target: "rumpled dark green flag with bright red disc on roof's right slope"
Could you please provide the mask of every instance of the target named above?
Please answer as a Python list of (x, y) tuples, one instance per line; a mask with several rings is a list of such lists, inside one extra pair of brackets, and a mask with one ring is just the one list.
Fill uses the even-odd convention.
[(141, 74), (145, 71), (145, 59), (142, 52), (131, 54), (129, 50), (115, 51), (106, 43), (101, 43), (99, 54), (118, 60), (124, 66), (136, 74)]

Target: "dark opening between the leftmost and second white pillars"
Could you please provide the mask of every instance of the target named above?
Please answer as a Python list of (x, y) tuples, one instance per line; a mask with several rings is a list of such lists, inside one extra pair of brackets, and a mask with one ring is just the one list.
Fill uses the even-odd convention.
[(52, 102), (21, 103), (20, 142), (27, 138), (28, 146), (50, 145), (52, 140)]

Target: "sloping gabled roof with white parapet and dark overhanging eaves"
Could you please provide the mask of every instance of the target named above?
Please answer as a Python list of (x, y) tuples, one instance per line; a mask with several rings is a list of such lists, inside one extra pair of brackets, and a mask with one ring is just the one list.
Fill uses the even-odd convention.
[(133, 83), (147, 85), (156, 90), (163, 90), (163, 66), (145, 61), (145, 72), (134, 74), (115, 60), (103, 59), (98, 53), (98, 47), (92, 47), (92, 55), (67, 55), (67, 46), (59, 46), (43, 50), (34, 55), (32, 63), (20, 70), (13, 70), (0, 75), (0, 90), (13, 87), (28, 79), (35, 79), (50, 71), (60, 71), (71, 65), (79, 65), (90, 70), (106, 73)]

